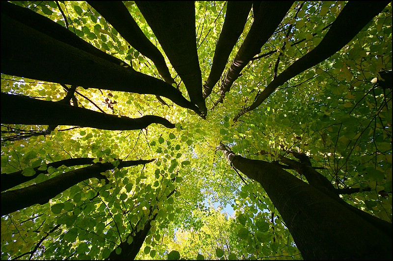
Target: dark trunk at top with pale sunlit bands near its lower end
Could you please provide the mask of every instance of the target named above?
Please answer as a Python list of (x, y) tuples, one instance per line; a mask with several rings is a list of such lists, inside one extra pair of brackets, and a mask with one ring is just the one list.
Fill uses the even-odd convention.
[(223, 102), (225, 93), (229, 92), (240, 72), (273, 35), (292, 4), (293, 1), (264, 1), (260, 3), (258, 11), (254, 12), (253, 25), (226, 74), (219, 102)]

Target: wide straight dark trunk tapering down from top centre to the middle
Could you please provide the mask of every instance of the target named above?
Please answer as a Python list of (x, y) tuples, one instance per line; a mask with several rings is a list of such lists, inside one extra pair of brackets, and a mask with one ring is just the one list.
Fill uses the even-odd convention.
[(191, 102), (198, 106), (202, 115), (206, 115), (197, 53), (194, 1), (135, 2), (183, 80)]

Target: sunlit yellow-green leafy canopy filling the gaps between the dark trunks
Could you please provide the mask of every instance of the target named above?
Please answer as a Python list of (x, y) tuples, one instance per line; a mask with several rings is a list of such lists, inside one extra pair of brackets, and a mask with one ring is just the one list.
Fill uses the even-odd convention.
[[(128, 62), (136, 71), (160, 78), (149, 58), (130, 46), (88, 3), (14, 3), (63, 26), (65, 15), (69, 30), (78, 37)], [(145, 36), (164, 53), (137, 5), (132, 1), (124, 4)], [(2, 173), (23, 169), (25, 176), (34, 175), (34, 167), (78, 157), (101, 162), (156, 161), (115, 168), (106, 173), (109, 184), (86, 180), (58, 194), (49, 204), (2, 216), (1, 258), (105, 259), (126, 235), (150, 222), (139, 259), (301, 259), (280, 214), (260, 185), (241, 180), (225, 157), (216, 152), (220, 142), (230, 145), (234, 153), (269, 162), (279, 160), (288, 149), (304, 152), (313, 166), (323, 167), (320, 172), (337, 189), (360, 188), (360, 192), (342, 195), (348, 203), (391, 222), (392, 89), (376, 84), (381, 81), (381, 71), (392, 70), (391, 3), (335, 55), (293, 77), (257, 109), (233, 121), (273, 80), (275, 72), (282, 72), (318, 45), (326, 34), (325, 27), (344, 5), (343, 1), (296, 1), (259, 55), (270, 54), (248, 63), (226, 93), (224, 103), (212, 109), (220, 97), (220, 81), (214, 87), (206, 99), (205, 120), (166, 98), (168, 106), (154, 95), (79, 87), (75, 96), (84, 108), (130, 118), (159, 115), (175, 123), (176, 128), (152, 124), (142, 130), (108, 131), (59, 126), (47, 136), (10, 141), (10, 130), (28, 134), (44, 131), (47, 126), (2, 124)], [(224, 23), (226, 2), (197, 1), (195, 9), (197, 52), (205, 82)], [(250, 30), (253, 10), (223, 77)], [(180, 83), (168, 59), (166, 62)], [(183, 83), (179, 88), (183, 95), (187, 93)], [(6, 74), (1, 75), (1, 92), (48, 101), (66, 95), (60, 84)], [(49, 175), (40, 174), (18, 188), (78, 167), (52, 168)], [(370, 191), (362, 191), (366, 188)], [(173, 190), (171, 197), (165, 196)], [(150, 206), (157, 206), (155, 220), (149, 219), (153, 214)], [(234, 212), (226, 214), (225, 207)], [(127, 240), (131, 243), (133, 239)], [(120, 251), (116, 249), (116, 253)]]

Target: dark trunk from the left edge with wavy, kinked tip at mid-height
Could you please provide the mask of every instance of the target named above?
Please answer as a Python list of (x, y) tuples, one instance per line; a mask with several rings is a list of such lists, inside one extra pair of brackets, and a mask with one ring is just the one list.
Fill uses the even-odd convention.
[(159, 123), (167, 128), (175, 127), (167, 119), (155, 115), (137, 119), (118, 117), (58, 102), (5, 93), (1, 93), (1, 123), (72, 125), (102, 130), (139, 130), (152, 123)]

